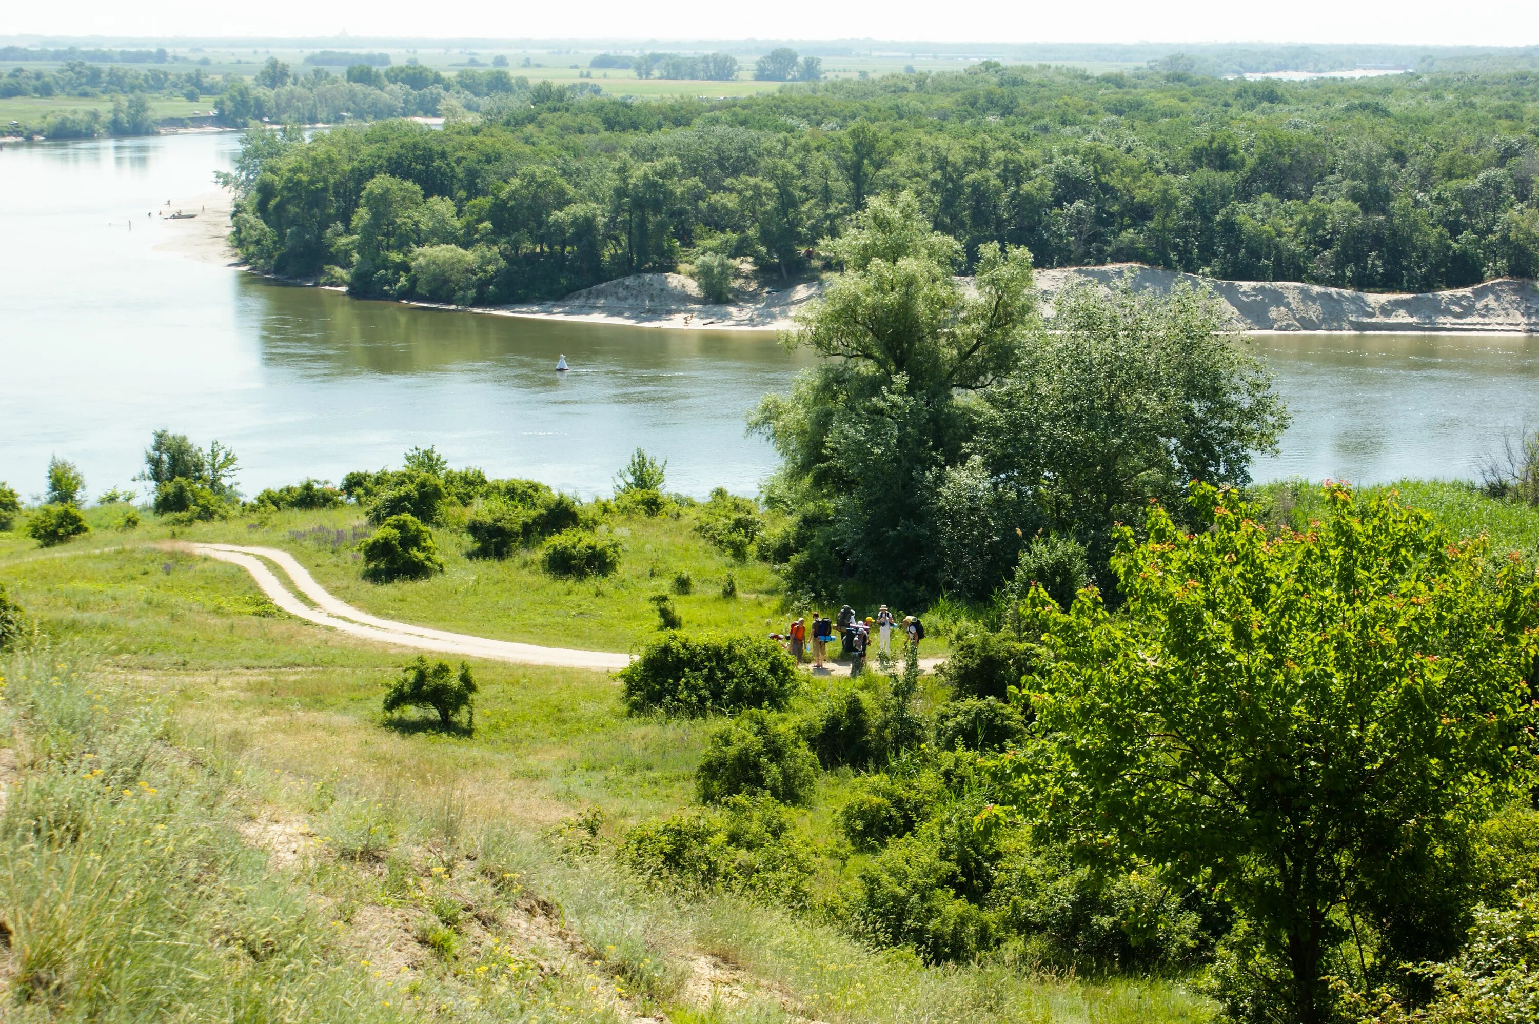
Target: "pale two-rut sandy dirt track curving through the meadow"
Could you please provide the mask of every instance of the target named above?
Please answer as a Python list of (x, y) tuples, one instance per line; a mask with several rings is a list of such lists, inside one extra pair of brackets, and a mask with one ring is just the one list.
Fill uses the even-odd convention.
[[(614, 671), (631, 664), (629, 654), (613, 651), (582, 651), (568, 647), (537, 647), (534, 644), (514, 644), (511, 641), (492, 641), (483, 636), (468, 636), (465, 633), (448, 633), (431, 630), (408, 622), (392, 622), (359, 611), (349, 604), (332, 597), (315, 579), (300, 565), (292, 554), (277, 548), (239, 547), (234, 544), (191, 544), (185, 548), (220, 562), (239, 565), (257, 581), (257, 587), (279, 608), (292, 616), (306, 619), (317, 625), (325, 625), (348, 636), (365, 641), (392, 644), (396, 647), (411, 647), (423, 651), (439, 651), (442, 654), (462, 654), (465, 658), (486, 658), (491, 661), (506, 661), (520, 665), (553, 665), (559, 668), (594, 668), (599, 671)], [(259, 557), (260, 556), (260, 557)], [(315, 607), (306, 605), (294, 596), (279, 579), (266, 562), (274, 565), (292, 581), (299, 593), (309, 597)]]

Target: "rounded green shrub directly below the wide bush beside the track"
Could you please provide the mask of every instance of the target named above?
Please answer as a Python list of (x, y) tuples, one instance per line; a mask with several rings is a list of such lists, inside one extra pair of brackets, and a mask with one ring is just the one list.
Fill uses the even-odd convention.
[(743, 711), (713, 731), (694, 773), (703, 804), (739, 795), (805, 804), (816, 778), (817, 759), (796, 730), (760, 710)]

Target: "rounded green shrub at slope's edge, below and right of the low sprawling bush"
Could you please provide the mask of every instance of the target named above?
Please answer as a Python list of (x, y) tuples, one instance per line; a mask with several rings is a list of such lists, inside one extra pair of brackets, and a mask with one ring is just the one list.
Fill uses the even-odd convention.
[(908, 836), (890, 844), (856, 879), (857, 929), (885, 945), (911, 945), (928, 962), (959, 962), (994, 942), (994, 922), (951, 888), (954, 864), (928, 842)]

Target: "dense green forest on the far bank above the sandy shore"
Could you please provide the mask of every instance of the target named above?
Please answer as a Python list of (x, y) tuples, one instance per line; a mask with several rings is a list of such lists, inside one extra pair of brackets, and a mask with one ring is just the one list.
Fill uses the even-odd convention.
[[(377, 92), (405, 71), (349, 79)], [(479, 117), (456, 100), (445, 131), (252, 136), (234, 182), (246, 259), (460, 302), (557, 297), (708, 253), (790, 276), (870, 196), (911, 191), (965, 269), (990, 242), (1037, 266), (1137, 260), (1364, 289), (1539, 269), (1530, 72), (1284, 83), (985, 62), (628, 102), (497, 71), (462, 72), (451, 95), (411, 71), (425, 80), (394, 88), (419, 109), (466, 97)], [(299, 89), (248, 89), (251, 112)]]

